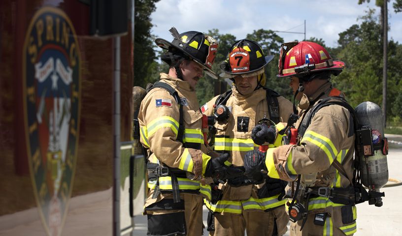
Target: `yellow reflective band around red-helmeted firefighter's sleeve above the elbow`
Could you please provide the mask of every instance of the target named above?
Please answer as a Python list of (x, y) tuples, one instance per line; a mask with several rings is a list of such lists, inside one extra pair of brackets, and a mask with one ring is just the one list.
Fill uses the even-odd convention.
[(330, 139), (317, 134), (314, 131), (308, 130), (302, 138), (302, 143), (306, 141), (315, 144), (316, 146), (321, 148), (327, 154), (330, 164), (332, 164), (338, 154), (338, 151), (336, 150), (334, 144)]

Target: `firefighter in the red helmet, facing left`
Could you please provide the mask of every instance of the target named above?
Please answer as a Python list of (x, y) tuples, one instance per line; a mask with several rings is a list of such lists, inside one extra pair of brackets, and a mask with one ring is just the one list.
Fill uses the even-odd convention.
[[(290, 42), (281, 47), (277, 76), (290, 78), (290, 87), (299, 101), (295, 123), (298, 139), (296, 145), (254, 155), (257, 160), (247, 165), (246, 173), (265, 170), (272, 178), (297, 180), (287, 194), (291, 198), (291, 236), (356, 232), (353, 117), (347, 106), (329, 103), (345, 102), (344, 94), (329, 81), (344, 66), (313, 42)], [(330, 105), (324, 106), (326, 103)], [(277, 136), (275, 142), (280, 139)]]

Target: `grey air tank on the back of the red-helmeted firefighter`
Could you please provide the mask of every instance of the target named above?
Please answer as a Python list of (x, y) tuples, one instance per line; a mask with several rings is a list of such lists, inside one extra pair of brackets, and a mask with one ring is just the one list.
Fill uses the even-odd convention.
[[(388, 181), (388, 164), (386, 155), (388, 153), (388, 143), (384, 137), (381, 108), (372, 102), (362, 102), (356, 107), (355, 113), (359, 120), (359, 124), (363, 126), (362, 130), (366, 127), (366, 129), (369, 129), (367, 132), (371, 132), (372, 143), (372, 148), (369, 148), (366, 142), (359, 151), (360, 177), (362, 183), (369, 187), (370, 190), (378, 191)], [(358, 137), (358, 135), (356, 138), (364, 139), (364, 137)], [(368, 168), (366, 160), (369, 164)], [(369, 175), (367, 174), (367, 169), (369, 169)]]

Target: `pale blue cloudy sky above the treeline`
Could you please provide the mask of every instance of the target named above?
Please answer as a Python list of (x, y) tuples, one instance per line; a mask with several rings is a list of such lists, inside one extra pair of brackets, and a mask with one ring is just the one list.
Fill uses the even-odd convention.
[[(375, 0), (359, 5), (358, 0), (160, 0), (151, 19), (152, 34), (171, 40), (174, 26), (181, 33), (189, 30), (207, 32), (219, 29), (237, 39), (257, 29), (304, 31), (306, 38), (322, 38), (335, 47), (338, 33), (358, 24), (369, 7), (379, 14)], [(402, 12), (395, 13), (393, 0), (388, 3), (388, 38), (402, 43)], [(299, 27), (297, 27), (299, 26)], [(296, 28), (295, 28), (296, 27)], [(293, 29), (292, 29), (293, 28)], [(290, 30), (289, 30), (290, 29)], [(285, 42), (303, 40), (303, 34), (279, 33)]]

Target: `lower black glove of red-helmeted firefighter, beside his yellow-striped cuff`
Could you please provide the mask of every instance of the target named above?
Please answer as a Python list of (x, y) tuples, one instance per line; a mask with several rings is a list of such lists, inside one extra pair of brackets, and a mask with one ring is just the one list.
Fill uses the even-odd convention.
[(259, 150), (248, 151), (244, 156), (245, 175), (252, 178), (256, 184), (262, 183), (267, 174), (262, 171), (268, 171), (265, 165), (265, 153)]

